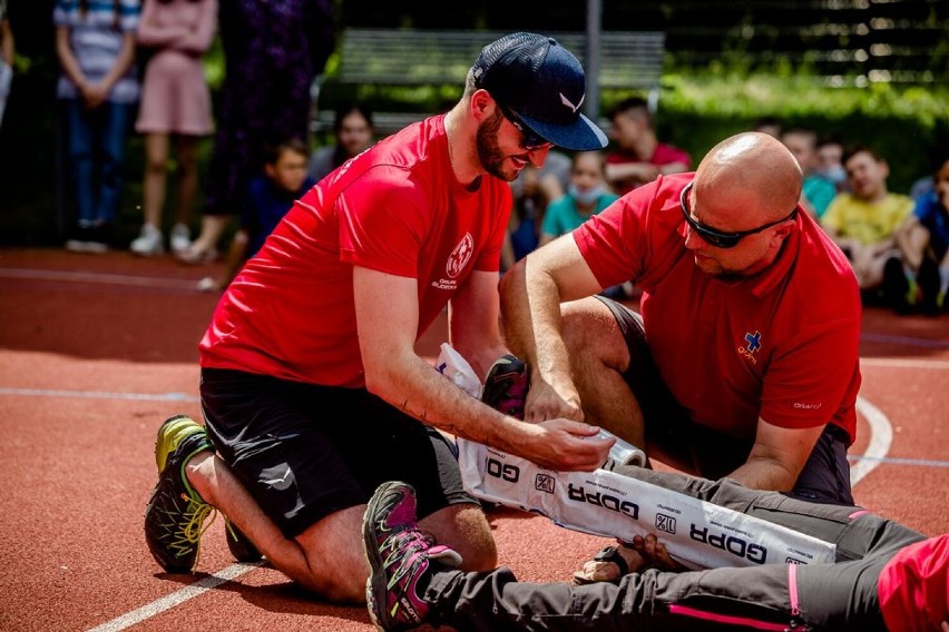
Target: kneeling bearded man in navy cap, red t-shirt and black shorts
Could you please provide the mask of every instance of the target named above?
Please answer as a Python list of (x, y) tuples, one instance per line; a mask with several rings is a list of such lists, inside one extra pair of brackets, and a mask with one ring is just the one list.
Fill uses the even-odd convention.
[(414, 350), (448, 306), (451, 343), (479, 377), (505, 354), (508, 181), (552, 145), (606, 145), (579, 113), (584, 90), (583, 68), (555, 40), (506, 36), (481, 51), (451, 111), (352, 158), (295, 203), (200, 342), (206, 431), (184, 416), (159, 429), (145, 527), (163, 567), (194, 567), (215, 507), (238, 559), (256, 547), (307, 589), (355, 602), (369, 572), (365, 503), (392, 476), (418, 485), (422, 524), (468, 569), (495, 565), (488, 522), (439, 431), (557, 470), (605, 461), (613, 442), (594, 440), (596, 428), (502, 415)]

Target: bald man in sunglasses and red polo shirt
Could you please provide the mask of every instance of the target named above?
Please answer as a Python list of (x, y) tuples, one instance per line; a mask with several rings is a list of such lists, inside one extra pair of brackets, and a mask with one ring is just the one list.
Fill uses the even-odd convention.
[[(525, 418), (584, 419), (692, 474), (852, 504), (860, 296), (801, 185), (781, 142), (741, 134), (508, 271)], [(639, 314), (595, 296), (630, 278)]]

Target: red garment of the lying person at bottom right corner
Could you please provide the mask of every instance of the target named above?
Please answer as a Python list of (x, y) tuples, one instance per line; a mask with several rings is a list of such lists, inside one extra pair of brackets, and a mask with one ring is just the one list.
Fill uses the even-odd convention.
[(890, 632), (928, 632), (949, 621), (949, 534), (897, 553), (877, 581)]

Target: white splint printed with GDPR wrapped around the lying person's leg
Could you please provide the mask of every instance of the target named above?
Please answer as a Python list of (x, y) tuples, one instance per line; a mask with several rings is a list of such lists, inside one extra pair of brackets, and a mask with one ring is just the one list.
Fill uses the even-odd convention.
[(628, 542), (653, 533), (693, 570), (834, 561), (833, 543), (616, 472), (555, 472), (462, 438), (458, 448), (473, 496), (593, 535)]

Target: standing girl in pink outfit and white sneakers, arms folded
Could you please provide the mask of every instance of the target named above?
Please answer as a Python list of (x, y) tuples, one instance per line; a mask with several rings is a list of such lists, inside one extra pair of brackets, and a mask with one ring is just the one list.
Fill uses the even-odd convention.
[(138, 43), (153, 49), (145, 69), (141, 103), (135, 129), (145, 135), (145, 224), (131, 243), (137, 255), (160, 255), (164, 249), (162, 209), (169, 138), (177, 158), (177, 215), (170, 246), (183, 251), (190, 245), (192, 205), (197, 191), (197, 145), (213, 131), (211, 91), (204, 78), (202, 55), (217, 28), (217, 0), (146, 0)]

